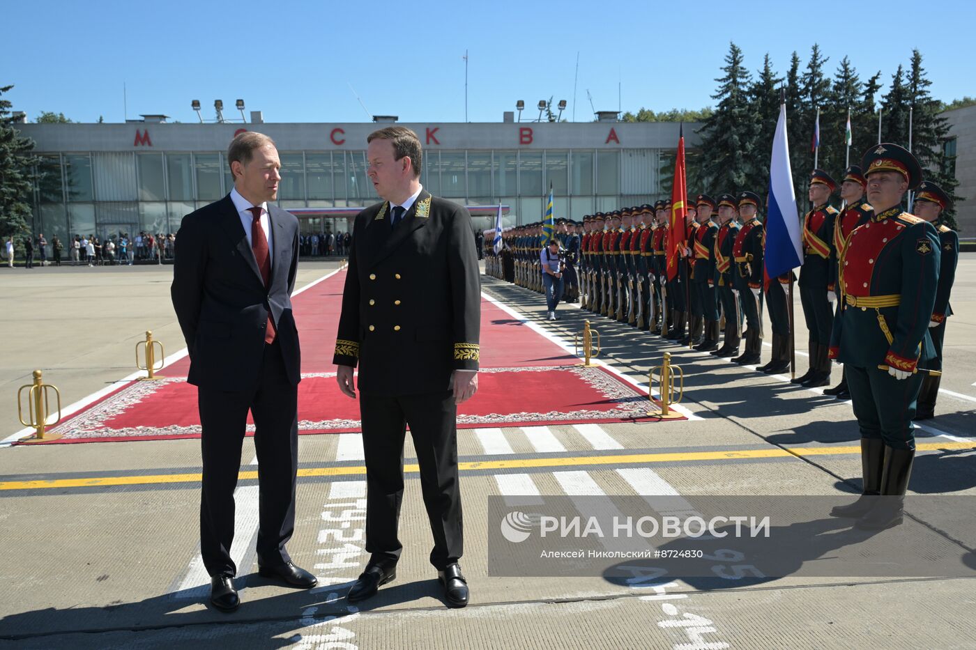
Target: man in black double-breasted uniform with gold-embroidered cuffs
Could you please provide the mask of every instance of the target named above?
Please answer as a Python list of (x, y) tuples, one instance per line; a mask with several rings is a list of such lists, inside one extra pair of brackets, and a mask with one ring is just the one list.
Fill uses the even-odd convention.
[[(421, 143), (394, 126), (370, 135), (367, 174), (384, 198), (355, 219), (333, 363), (359, 409), (366, 462), (369, 563), (361, 600), (396, 575), (403, 436), (410, 427), (433, 549), (451, 607), (468, 604), (458, 483), (458, 404), (477, 389), (481, 296), (468, 210), (425, 191)], [(404, 373), (408, 373), (405, 375)]]

